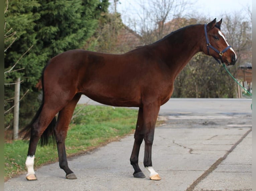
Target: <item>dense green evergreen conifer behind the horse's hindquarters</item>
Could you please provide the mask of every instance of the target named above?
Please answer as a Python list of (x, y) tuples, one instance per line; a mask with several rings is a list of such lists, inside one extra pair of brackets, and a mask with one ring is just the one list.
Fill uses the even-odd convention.
[[(5, 69), (13, 66), (33, 45), (15, 66), (18, 71), (5, 78), (5, 82), (12, 83), (17, 77), (21, 77), (21, 95), (27, 89), (30, 90), (20, 103), (21, 117), (30, 120), (38, 107), (35, 85), (47, 61), (64, 51), (83, 47), (86, 40), (94, 34), (98, 19), (102, 12), (107, 11), (108, 5), (108, 0), (9, 1), (5, 14), (6, 29), (13, 28), (17, 39), (5, 52)], [(6, 42), (5, 47), (7, 46)], [(5, 99), (12, 97), (13, 92), (12, 85), (5, 86)]]

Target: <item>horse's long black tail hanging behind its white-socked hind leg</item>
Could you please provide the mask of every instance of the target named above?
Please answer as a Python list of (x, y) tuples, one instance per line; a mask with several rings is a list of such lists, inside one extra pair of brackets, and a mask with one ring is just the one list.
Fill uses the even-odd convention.
[[(31, 128), (32, 128), (34, 122), (38, 119), (38, 117), (39, 117), (39, 115), (42, 111), (43, 105), (44, 105), (43, 73), (44, 73), (44, 70), (45, 70), (46, 66), (43, 69), (42, 77), (41, 77), (42, 90), (43, 90), (42, 103), (41, 103), (39, 109), (37, 110), (35, 116), (33, 117), (32, 121), (19, 132), (19, 134), (24, 134), (25, 133), (23, 139), (27, 139), (29, 137), (31, 138), (31, 136), (32, 136)], [(52, 121), (50, 122), (48, 127), (44, 130), (43, 134), (41, 135), (40, 140), (39, 140), (41, 146), (55, 142), (55, 136), (54, 136), (54, 127), (55, 127), (55, 125), (56, 125), (56, 117), (54, 117), (52, 119)]]

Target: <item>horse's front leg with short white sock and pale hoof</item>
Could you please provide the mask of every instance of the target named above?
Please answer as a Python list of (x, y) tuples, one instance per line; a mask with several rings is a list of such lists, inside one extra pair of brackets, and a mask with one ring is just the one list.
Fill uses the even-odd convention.
[(149, 178), (151, 180), (161, 180), (159, 174), (152, 167), (152, 144), (154, 140), (155, 124), (158, 116), (160, 106), (150, 104), (143, 108), (144, 118), (144, 141), (145, 141), (145, 153), (144, 153), (144, 166), (149, 171)]

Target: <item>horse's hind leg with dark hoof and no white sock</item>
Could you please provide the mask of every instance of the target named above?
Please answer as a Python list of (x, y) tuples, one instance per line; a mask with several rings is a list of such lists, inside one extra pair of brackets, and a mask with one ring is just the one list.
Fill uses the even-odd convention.
[(76, 175), (70, 170), (67, 161), (65, 139), (67, 136), (68, 127), (74, 112), (74, 109), (79, 101), (81, 95), (77, 94), (74, 98), (59, 111), (56, 128), (54, 129), (54, 135), (56, 138), (59, 167), (66, 172), (67, 179), (76, 179)]

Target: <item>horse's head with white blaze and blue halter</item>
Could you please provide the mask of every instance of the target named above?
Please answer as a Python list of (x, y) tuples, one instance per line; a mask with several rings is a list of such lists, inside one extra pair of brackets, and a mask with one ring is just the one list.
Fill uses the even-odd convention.
[(221, 32), (221, 23), (222, 19), (216, 23), (215, 18), (205, 25), (206, 41), (203, 43), (203, 52), (214, 57), (219, 64), (234, 65), (237, 61), (237, 56)]

